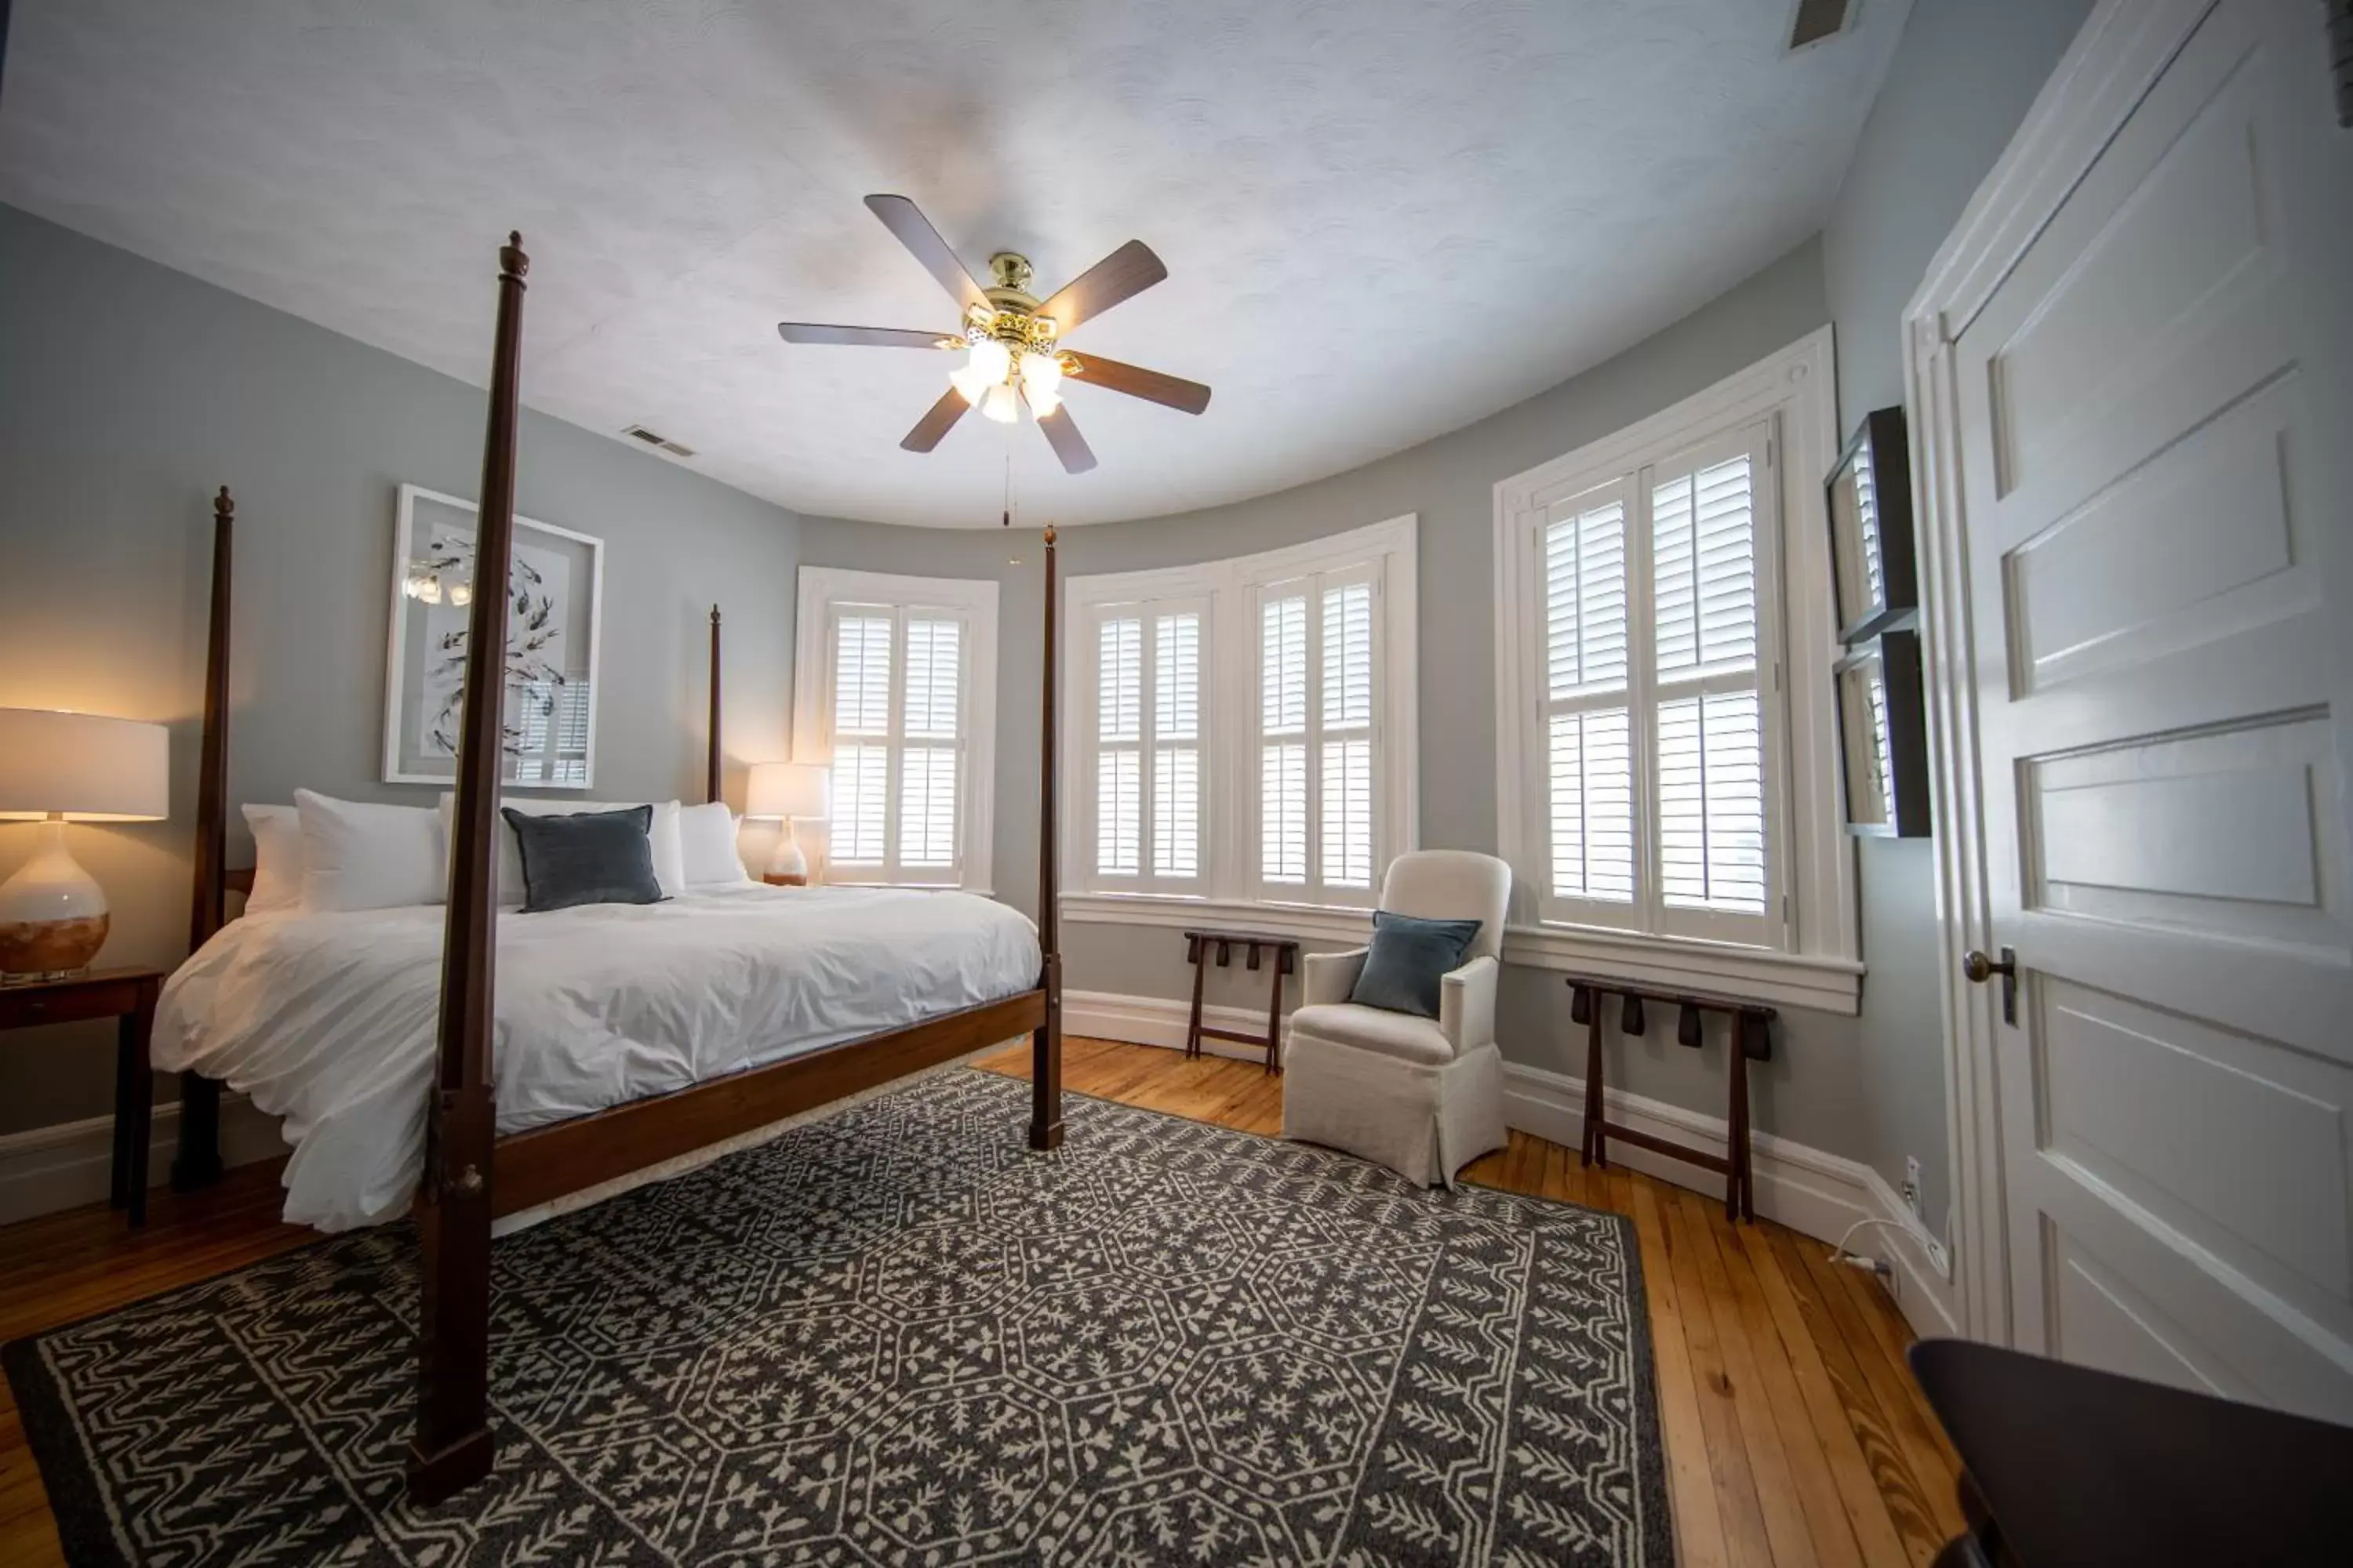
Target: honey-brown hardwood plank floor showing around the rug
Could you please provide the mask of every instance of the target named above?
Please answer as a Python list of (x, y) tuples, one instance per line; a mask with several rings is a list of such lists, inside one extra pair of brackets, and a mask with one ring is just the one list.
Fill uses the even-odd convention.
[[(981, 1063), (1026, 1077), (1028, 1048)], [(1078, 1093), (1275, 1133), (1282, 1079), (1252, 1063), (1071, 1039)], [(1955, 1460), (1904, 1371), (1911, 1331), (1868, 1276), (1779, 1225), (1513, 1133), (1468, 1180), (1633, 1215), (1649, 1295), (1678, 1556), (1692, 1568), (1927, 1563), (1955, 1535)], [(278, 1164), (200, 1194), (158, 1192), (141, 1234), (104, 1206), (0, 1229), (0, 1340), (71, 1324), (301, 1246)], [(0, 1389), (0, 1563), (64, 1563), (49, 1500)]]

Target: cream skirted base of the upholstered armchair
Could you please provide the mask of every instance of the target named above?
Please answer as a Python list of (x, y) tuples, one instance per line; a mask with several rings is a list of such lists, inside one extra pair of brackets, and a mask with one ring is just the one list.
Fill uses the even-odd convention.
[(1452, 1187), (1457, 1171), (1506, 1145), (1504, 1053), (1489, 1041), (1445, 1063), (1405, 1060), (1294, 1030), (1282, 1135), (1388, 1166), (1417, 1187)]

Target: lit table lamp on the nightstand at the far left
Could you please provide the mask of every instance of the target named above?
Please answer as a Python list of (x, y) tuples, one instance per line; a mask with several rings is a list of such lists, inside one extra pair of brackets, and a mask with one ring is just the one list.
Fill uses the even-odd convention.
[(106, 943), (106, 891), (75, 865), (66, 823), (169, 816), (162, 724), (0, 708), (0, 818), (40, 818), (33, 858), (0, 882), (0, 983), (61, 980)]

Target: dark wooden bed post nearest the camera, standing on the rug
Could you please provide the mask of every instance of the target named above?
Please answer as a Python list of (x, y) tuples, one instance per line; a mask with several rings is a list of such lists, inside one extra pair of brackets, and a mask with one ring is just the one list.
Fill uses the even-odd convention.
[(522, 235), (499, 252), (499, 334), (489, 360), (466, 712), (456, 748), (449, 919), (442, 933), (440, 1046), (416, 1187), (419, 1356), (409, 1497), (431, 1505), (489, 1474), (489, 1218), (496, 1112), (489, 1048), (496, 969), (499, 766), (506, 609), (515, 550), (515, 378), (522, 357)]

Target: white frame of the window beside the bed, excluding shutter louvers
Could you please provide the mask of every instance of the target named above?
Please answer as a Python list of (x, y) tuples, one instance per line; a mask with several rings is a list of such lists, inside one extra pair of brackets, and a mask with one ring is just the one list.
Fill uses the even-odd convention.
[[(800, 567), (793, 621), (793, 757), (833, 764), (833, 625), (842, 611), (873, 609), (892, 618), (889, 733), (894, 755), (906, 741), (906, 625), (934, 611), (960, 621), (958, 670), (958, 825), (955, 865), (904, 865), (885, 851), (880, 865), (840, 865), (833, 830), (824, 835), (824, 879), (840, 886), (960, 889), (993, 896), (995, 729), (998, 729), (998, 583), (993, 578), (920, 578), (842, 567)], [(894, 762), (892, 778), (904, 771)], [(899, 790), (885, 795), (885, 844), (899, 837)]]

